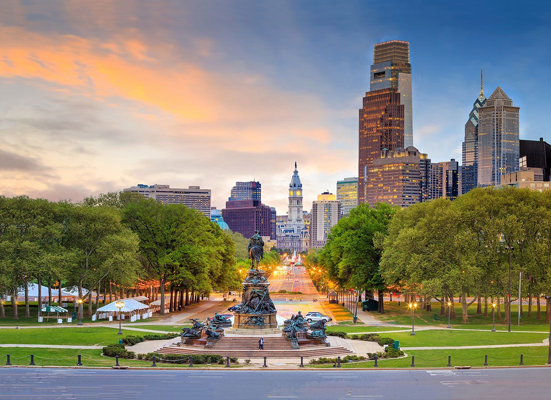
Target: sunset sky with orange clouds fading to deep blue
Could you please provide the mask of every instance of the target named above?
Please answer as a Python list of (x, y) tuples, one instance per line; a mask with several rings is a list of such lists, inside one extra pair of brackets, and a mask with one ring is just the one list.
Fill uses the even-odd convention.
[(447, 1), (0, 2), (0, 195), (80, 201), (143, 184), (262, 183), (287, 212), (358, 176), (375, 43), (410, 42), (413, 140), (461, 160), (479, 94), (500, 85), (521, 139), (551, 142), (551, 5)]

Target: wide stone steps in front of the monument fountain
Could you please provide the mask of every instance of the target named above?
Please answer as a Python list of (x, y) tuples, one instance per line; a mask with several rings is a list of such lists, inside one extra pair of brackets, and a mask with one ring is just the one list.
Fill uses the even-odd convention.
[(291, 349), (290, 343), (283, 337), (264, 338), (264, 350), (258, 350), (258, 337), (222, 337), (212, 348), (204, 349), (197, 346), (164, 346), (156, 350), (163, 354), (219, 354), (223, 357), (241, 358), (298, 358), (306, 357), (336, 357), (352, 354), (343, 347), (327, 347), (325, 344), (307, 346), (297, 350)]

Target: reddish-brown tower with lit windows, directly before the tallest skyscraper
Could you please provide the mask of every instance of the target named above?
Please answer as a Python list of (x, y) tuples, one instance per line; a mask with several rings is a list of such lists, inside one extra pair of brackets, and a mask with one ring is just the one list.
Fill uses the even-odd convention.
[(364, 202), (365, 169), (381, 156), (404, 146), (404, 105), (393, 87), (365, 94), (359, 110), (358, 204)]

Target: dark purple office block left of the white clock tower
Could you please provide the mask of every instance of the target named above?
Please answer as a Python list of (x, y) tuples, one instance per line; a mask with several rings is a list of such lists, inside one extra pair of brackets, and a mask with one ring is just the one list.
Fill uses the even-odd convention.
[(226, 208), (222, 210), (224, 221), (233, 232), (241, 233), (245, 238), (260, 231), (261, 236), (271, 237), (272, 210), (260, 200), (233, 200), (226, 201)]

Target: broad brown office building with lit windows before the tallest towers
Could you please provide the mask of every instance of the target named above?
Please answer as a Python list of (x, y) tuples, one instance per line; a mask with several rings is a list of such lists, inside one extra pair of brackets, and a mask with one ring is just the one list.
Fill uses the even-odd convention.
[(415, 147), (390, 151), (366, 167), (365, 202), (399, 207), (429, 200), (430, 158)]

